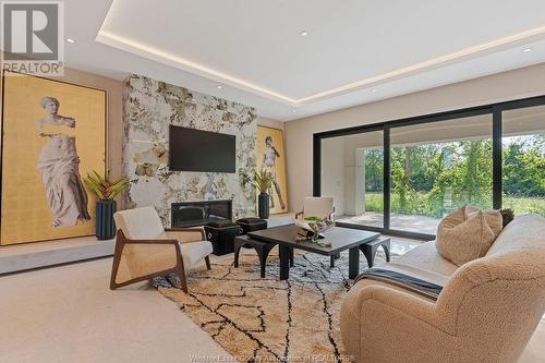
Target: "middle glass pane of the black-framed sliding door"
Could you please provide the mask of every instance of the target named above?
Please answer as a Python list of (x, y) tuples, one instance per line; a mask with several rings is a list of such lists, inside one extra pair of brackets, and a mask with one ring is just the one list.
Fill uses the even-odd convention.
[(435, 234), (463, 206), (493, 206), (492, 114), (390, 129), (390, 229)]

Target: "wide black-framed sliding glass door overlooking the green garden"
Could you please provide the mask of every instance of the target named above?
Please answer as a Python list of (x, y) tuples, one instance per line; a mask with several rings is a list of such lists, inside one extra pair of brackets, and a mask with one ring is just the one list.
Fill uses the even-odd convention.
[(340, 226), (434, 238), (463, 205), (545, 216), (545, 96), (314, 134)]

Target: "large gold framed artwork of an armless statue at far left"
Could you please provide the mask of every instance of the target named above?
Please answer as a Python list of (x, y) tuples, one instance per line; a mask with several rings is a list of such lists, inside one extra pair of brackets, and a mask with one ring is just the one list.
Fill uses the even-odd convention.
[(106, 92), (2, 75), (0, 244), (95, 234), (82, 183), (106, 171)]

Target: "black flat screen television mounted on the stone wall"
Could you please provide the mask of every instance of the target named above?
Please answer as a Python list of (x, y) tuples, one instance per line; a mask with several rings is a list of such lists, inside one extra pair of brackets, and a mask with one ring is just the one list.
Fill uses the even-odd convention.
[(170, 125), (170, 170), (235, 172), (235, 136)]

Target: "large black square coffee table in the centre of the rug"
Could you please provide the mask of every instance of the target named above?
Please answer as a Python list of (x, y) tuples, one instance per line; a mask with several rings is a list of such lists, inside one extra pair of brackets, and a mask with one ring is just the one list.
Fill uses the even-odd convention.
[(330, 246), (320, 246), (310, 241), (296, 241), (299, 227), (295, 225), (274, 227), (261, 231), (250, 232), (249, 237), (269, 243), (278, 244), (280, 256), (280, 280), (290, 277), (290, 254), (293, 249), (317, 253), (324, 256), (335, 256), (341, 251), (349, 250), (348, 276), (354, 279), (360, 274), (360, 245), (376, 240), (380, 234), (350, 228), (332, 227), (327, 230), (320, 242), (330, 242)]

